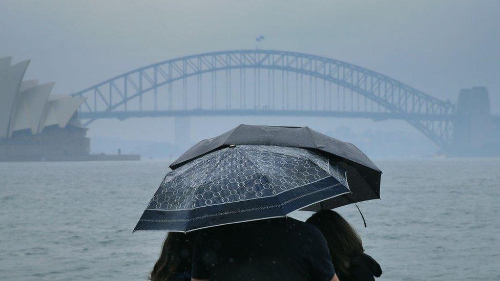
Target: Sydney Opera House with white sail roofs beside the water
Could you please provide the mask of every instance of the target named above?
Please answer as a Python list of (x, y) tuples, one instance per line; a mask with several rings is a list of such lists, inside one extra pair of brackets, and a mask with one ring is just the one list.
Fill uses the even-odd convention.
[(77, 160), (89, 156), (81, 97), (50, 95), (53, 82), (23, 80), (29, 60), (0, 58), (0, 161)]

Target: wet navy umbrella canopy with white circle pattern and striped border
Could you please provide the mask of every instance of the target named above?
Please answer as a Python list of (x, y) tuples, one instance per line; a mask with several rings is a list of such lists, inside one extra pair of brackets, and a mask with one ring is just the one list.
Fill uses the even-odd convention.
[(169, 172), (134, 231), (190, 231), (285, 217), (348, 192), (345, 171), (311, 150), (226, 147)]

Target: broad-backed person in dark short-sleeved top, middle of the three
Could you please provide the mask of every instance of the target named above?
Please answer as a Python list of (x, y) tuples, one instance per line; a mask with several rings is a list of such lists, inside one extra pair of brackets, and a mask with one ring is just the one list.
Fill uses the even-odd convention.
[(208, 228), (198, 234), (192, 280), (338, 281), (326, 241), (291, 218)]

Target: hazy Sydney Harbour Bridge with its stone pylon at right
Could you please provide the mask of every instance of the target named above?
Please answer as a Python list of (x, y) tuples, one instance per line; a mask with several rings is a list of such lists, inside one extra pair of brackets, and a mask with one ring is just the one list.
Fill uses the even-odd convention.
[[(489, 112), (486, 89), (464, 91), (455, 104), (336, 59), (276, 50), (234, 50), (161, 61), (72, 95), (86, 98), (78, 113), (86, 125), (100, 118), (160, 116), (400, 119), (447, 152), (488, 142), (488, 132), (496, 131), (500, 123)], [(486, 127), (474, 126), (483, 121)], [(474, 130), (481, 136), (488, 131), (489, 137), (477, 144), (470, 140), (477, 135)]]

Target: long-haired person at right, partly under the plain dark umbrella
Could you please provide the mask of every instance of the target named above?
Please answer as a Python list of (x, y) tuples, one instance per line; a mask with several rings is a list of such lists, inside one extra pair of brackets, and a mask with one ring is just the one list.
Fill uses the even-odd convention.
[(361, 237), (342, 216), (332, 210), (321, 210), (307, 219), (323, 233), (341, 281), (374, 280), (382, 275), (380, 265), (364, 253)]

